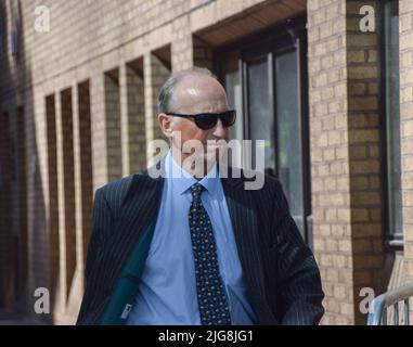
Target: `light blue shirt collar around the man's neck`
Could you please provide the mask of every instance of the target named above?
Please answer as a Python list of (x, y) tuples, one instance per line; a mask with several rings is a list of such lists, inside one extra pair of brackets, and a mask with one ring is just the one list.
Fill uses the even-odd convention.
[(185, 193), (196, 182), (202, 184), (212, 196), (215, 196), (217, 189), (219, 188), (220, 181), (217, 164), (215, 164), (209, 172), (198, 181), (173, 159), (172, 153), (169, 151), (165, 158), (165, 171), (167, 179), (172, 183), (173, 191), (178, 194)]

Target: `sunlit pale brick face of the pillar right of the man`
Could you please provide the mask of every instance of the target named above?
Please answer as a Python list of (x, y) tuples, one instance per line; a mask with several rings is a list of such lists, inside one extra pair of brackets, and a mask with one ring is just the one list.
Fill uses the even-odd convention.
[(353, 323), (346, 4), (308, 3), (313, 240), (325, 324)]

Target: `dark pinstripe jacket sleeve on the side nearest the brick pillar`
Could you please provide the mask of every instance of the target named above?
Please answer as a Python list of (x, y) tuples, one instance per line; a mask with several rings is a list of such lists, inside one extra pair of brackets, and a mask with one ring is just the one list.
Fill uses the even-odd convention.
[(320, 271), (311, 249), (304, 243), (289, 214), (280, 182), (276, 184), (276, 282), (281, 324), (318, 324), (324, 313)]

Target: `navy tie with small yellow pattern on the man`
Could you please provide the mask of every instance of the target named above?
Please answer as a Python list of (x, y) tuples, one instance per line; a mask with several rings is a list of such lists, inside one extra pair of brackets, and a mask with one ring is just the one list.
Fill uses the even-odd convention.
[(203, 325), (230, 325), (231, 317), (221, 275), (212, 224), (201, 201), (204, 187), (191, 187), (189, 221), (195, 261), (196, 292)]

